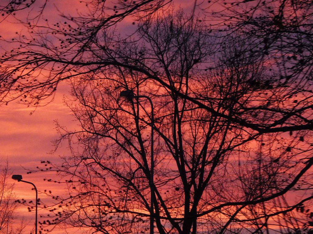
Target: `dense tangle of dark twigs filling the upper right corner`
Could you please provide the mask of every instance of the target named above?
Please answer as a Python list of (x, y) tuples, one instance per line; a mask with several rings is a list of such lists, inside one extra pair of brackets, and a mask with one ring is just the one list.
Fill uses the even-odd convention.
[(271, 0), (225, 2), (215, 12), (223, 32), (237, 32), (256, 46), (252, 53), (267, 58), (281, 80), (311, 83), (312, 12), (307, 1)]

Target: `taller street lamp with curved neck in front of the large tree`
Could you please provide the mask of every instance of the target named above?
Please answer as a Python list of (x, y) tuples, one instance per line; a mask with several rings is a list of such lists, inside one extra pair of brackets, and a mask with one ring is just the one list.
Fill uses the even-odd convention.
[(150, 191), (151, 191), (151, 204), (150, 204), (150, 234), (153, 234), (154, 229), (154, 209), (153, 209), (153, 203), (154, 203), (154, 183), (153, 183), (153, 174), (154, 174), (154, 160), (153, 160), (153, 125), (154, 125), (154, 114), (153, 114), (153, 103), (150, 97), (146, 95), (134, 95), (133, 90), (124, 90), (121, 91), (120, 97), (124, 97), (127, 100), (131, 101), (134, 98), (146, 98), (149, 100), (151, 104), (151, 170), (150, 170)]

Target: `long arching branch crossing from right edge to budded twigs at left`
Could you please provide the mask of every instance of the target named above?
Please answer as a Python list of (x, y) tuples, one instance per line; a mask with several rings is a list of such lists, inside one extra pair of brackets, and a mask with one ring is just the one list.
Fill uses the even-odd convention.
[[(110, 27), (107, 24), (100, 23), (102, 19), (106, 19), (106, 17), (102, 17), (101, 12), (103, 13), (104, 9), (100, 7), (101, 4), (97, 1), (92, 3), (93, 4), (90, 4), (92, 13), (86, 17), (75, 18), (64, 15), (64, 22), (58, 22), (55, 26), (49, 23), (47, 23), (47, 25), (38, 26), (31, 24), (30, 28), (32, 31), (29, 37), (26, 34), (12, 39), (3, 39), (8, 43), (17, 45), (13, 50), (4, 52), (1, 59), (3, 65), (1, 67), (0, 78), (0, 100), (2, 100), (3, 103), (8, 103), (10, 100), (18, 100), (24, 104), (38, 106), (41, 101), (53, 95), (54, 91), (57, 89), (57, 85), (62, 80), (79, 77), (86, 73), (106, 70), (109, 66), (121, 66), (143, 73), (145, 76), (149, 77), (149, 79), (166, 86), (167, 89), (172, 90), (183, 98), (187, 98), (201, 108), (214, 113), (214, 115), (228, 118), (230, 121), (237, 122), (240, 125), (259, 132), (287, 132), (312, 129), (313, 125), (310, 122), (300, 125), (293, 123), (293, 126), (285, 125), (283, 128), (277, 127), (276, 124), (275, 126), (272, 125), (271, 129), (264, 129), (262, 125), (247, 123), (242, 119), (234, 119), (231, 116), (222, 115), (210, 108), (209, 105), (206, 105), (205, 100), (195, 99), (191, 95), (184, 95), (173, 89), (171, 84), (160, 79), (157, 74), (153, 73), (154, 71), (150, 71), (146, 69), (146, 67), (137, 66), (136, 61), (125, 61), (124, 58), (111, 56), (111, 54), (119, 52), (116, 50), (116, 47), (112, 47), (116, 44), (115, 41), (119, 39), (118, 37), (114, 37), (114, 32), (110, 32)], [(143, 14), (144, 12), (145, 11), (143, 11)], [(150, 11), (147, 11), (146, 15), (149, 17), (148, 12)], [(243, 12), (241, 16), (245, 17), (246, 13), (247, 12)], [(99, 22), (97, 18), (94, 19), (92, 17), (93, 15), (99, 15)], [(97, 23), (99, 23), (99, 25)], [(254, 34), (253, 31), (249, 33), (248, 36)], [(47, 35), (49, 35), (49, 38)], [(35, 38), (33, 36), (35, 36)], [(220, 36), (224, 37), (225, 35)], [(249, 41), (248, 44), (261, 45), (260, 41), (252, 40), (253, 38), (251, 39), (251, 37), (249, 37), (249, 39), (247, 39), (247, 36), (245, 37), (245, 42)], [(226, 39), (226, 41), (227, 40), (228, 39)], [(45, 48), (48, 48), (47, 53), (43, 53), (42, 51)], [(255, 50), (255, 48), (258, 47), (250, 49), (249, 53), (256, 55), (256, 58), (267, 58), (263, 56), (266, 51), (264, 52), (264, 50), (261, 49), (261, 54), (258, 54), (259, 50)], [(238, 55), (235, 54), (235, 56)], [(277, 69), (273, 70), (276, 66), (287, 66), (280, 60), (275, 61), (272, 65), (273, 67), (270, 68), (272, 69), (271, 71), (277, 73), (276, 76), (270, 76), (269, 78), (275, 79), (277, 82), (280, 80), (288, 84), (291, 82), (293, 82), (293, 84), (299, 84), (301, 83), (301, 80), (298, 80), (300, 79), (299, 76), (302, 75), (301, 77), (305, 77), (303, 73), (298, 71), (291, 71), (290, 73), (290, 70), (288, 70), (288, 72), (284, 69), (278, 69), (279, 72)], [(48, 71), (48, 73), (46, 71)], [(308, 74), (308, 77), (310, 77), (310, 74)], [(290, 78), (293, 79), (290, 80)], [(270, 79), (266, 81), (266, 83), (269, 82)], [(310, 86), (311, 80), (309, 79), (307, 82)], [(282, 119), (280, 123), (281, 122), (284, 122), (284, 120)]]

